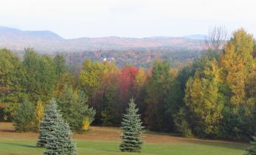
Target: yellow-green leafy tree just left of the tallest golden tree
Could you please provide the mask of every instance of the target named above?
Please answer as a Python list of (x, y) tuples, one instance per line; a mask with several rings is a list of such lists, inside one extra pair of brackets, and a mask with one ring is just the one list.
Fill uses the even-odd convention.
[(217, 61), (208, 60), (202, 75), (196, 71), (194, 78), (187, 81), (184, 100), (197, 134), (217, 134), (224, 108), (224, 99), (218, 88), (221, 83), (220, 73)]

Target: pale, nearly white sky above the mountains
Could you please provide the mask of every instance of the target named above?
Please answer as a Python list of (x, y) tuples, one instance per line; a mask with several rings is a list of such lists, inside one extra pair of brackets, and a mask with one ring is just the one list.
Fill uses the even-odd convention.
[(255, 0), (1, 0), (0, 26), (63, 38), (184, 36), (214, 26), (256, 35)]

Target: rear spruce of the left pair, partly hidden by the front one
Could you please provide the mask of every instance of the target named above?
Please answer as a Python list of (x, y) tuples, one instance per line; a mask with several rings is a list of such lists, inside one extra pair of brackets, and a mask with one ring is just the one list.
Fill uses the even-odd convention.
[(45, 109), (44, 120), (40, 122), (39, 139), (36, 144), (37, 147), (45, 147), (50, 133), (54, 131), (60, 117), (60, 111), (57, 110), (56, 102), (54, 99), (51, 99), (50, 104)]

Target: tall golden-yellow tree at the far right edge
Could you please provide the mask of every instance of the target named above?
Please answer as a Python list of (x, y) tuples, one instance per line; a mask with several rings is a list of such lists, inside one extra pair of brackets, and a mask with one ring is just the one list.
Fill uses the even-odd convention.
[(251, 56), (253, 49), (254, 39), (244, 29), (234, 32), (233, 38), (224, 47), (221, 67), (224, 82), (231, 90), (230, 103), (233, 105), (246, 103), (246, 81), (254, 68), (254, 59)]

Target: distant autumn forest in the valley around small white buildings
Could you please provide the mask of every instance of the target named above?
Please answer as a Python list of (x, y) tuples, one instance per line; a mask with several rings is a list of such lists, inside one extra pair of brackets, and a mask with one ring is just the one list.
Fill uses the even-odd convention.
[[(171, 62), (173, 68), (182, 68), (193, 59), (199, 57), (205, 50), (174, 50), (171, 48), (134, 49), (134, 50), (89, 50), (84, 52), (61, 53), (67, 64), (74, 67), (82, 65), (86, 58), (115, 62), (117, 66), (135, 65), (140, 68), (150, 68), (154, 60), (162, 59)], [(80, 69), (80, 68), (79, 68)]]

